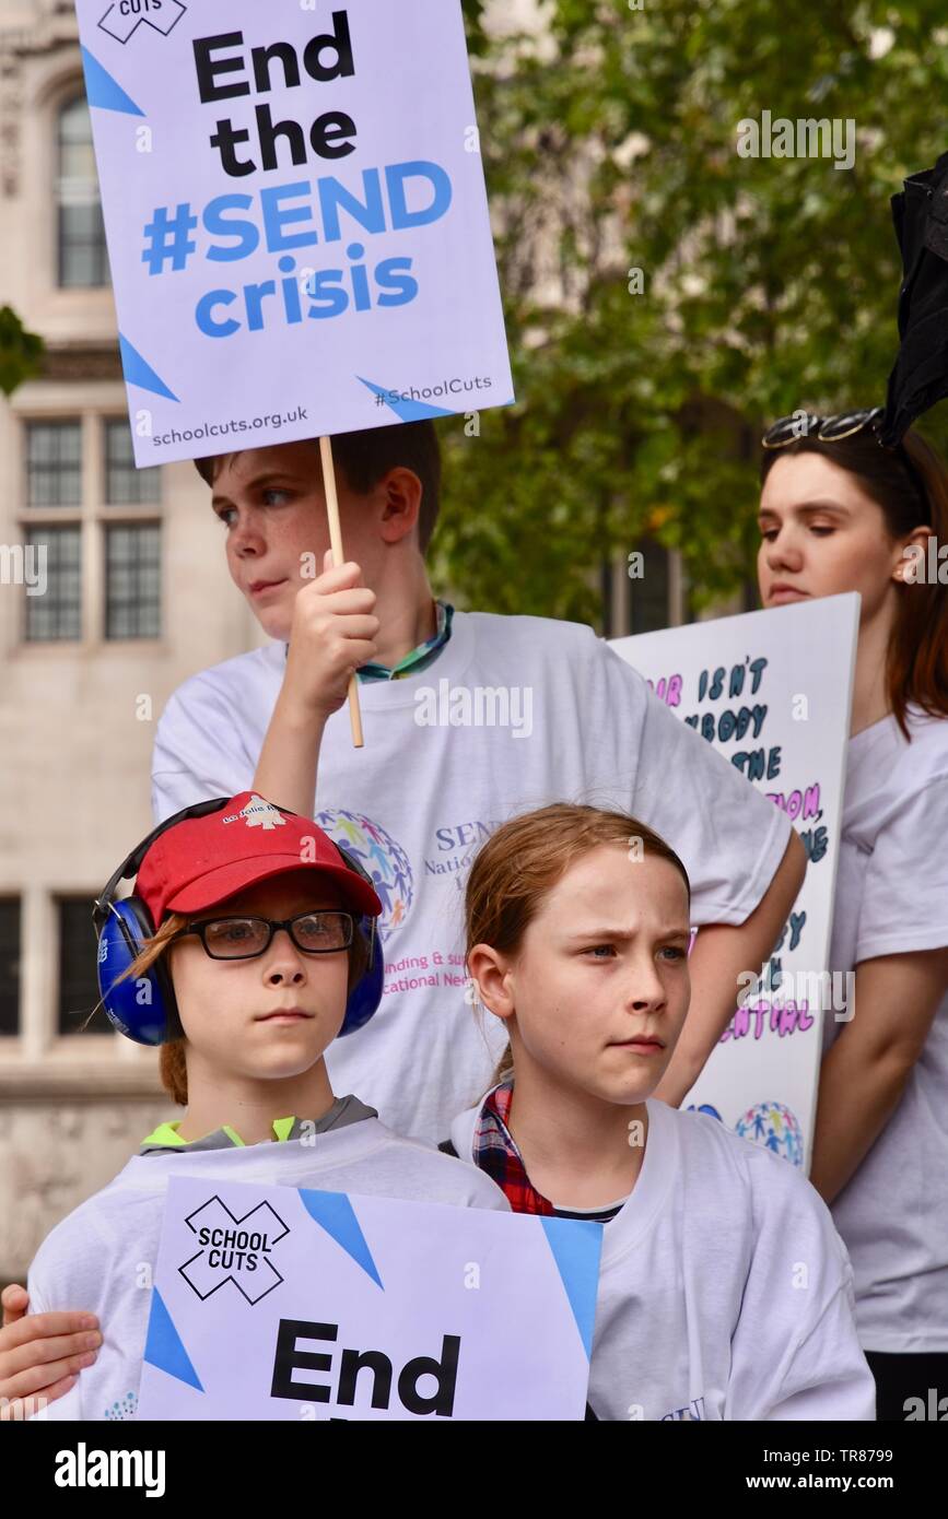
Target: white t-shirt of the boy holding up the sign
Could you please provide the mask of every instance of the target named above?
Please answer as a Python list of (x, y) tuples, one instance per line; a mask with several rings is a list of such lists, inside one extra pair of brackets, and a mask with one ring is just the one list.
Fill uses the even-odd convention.
[[(158, 820), (252, 785), (286, 668), (283, 644), (185, 681), (155, 738)], [(444, 714), (509, 702), (509, 726), (422, 726), (416, 697)], [(451, 693), (460, 691), (454, 697)], [(529, 693), (529, 697), (527, 697)], [(491, 1082), (503, 1030), (465, 1003), (463, 883), (501, 822), (548, 802), (618, 807), (655, 828), (691, 876), (693, 924), (743, 924), (781, 863), (790, 823), (589, 627), (457, 612), (421, 674), (360, 685), (365, 749), (343, 708), (325, 729), (314, 817), (357, 854), (386, 911), (381, 1007), (328, 1054), (333, 1085), (356, 1091), (400, 1133), (444, 1139)], [(433, 702), (431, 705), (436, 705)], [(431, 715), (439, 715), (438, 712)], [(494, 1021), (491, 1019), (491, 1024)]]

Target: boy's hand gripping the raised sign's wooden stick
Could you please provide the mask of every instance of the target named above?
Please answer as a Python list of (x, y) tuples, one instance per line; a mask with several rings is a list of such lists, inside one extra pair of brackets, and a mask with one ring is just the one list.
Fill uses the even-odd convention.
[(327, 550), (324, 571), (296, 592), (283, 700), (302, 717), (328, 717), (346, 699), (352, 673), (375, 656), (378, 618), (375, 592), (357, 564), (333, 568)]

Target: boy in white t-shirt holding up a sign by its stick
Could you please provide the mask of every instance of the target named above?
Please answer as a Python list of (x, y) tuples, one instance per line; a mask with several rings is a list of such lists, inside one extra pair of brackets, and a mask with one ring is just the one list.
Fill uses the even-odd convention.
[[(719, 1028), (738, 974), (757, 969), (779, 936), (804, 849), (787, 819), (591, 629), (433, 600), (430, 422), (343, 434), (334, 454), (356, 562), (322, 576), (313, 444), (199, 462), (231, 576), (273, 643), (172, 696), (155, 741), (155, 814), (254, 785), (314, 813), (360, 855), (384, 905), (384, 1006), (330, 1066), (395, 1129), (438, 1141), (486, 1085), (495, 1053), (471, 1030), (463, 1000), (459, 887), (500, 822), (542, 801), (614, 801), (672, 838), (702, 925), (696, 1003), (705, 1027)], [(356, 668), (366, 735), (357, 752), (339, 711)], [(662, 1097), (681, 1101), (713, 1044), (685, 1030), (681, 1080)], [(409, 1077), (421, 1060), (418, 1086)]]

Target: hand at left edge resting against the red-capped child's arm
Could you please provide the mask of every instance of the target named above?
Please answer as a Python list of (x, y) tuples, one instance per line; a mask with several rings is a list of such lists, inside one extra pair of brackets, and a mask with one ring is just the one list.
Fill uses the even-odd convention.
[(40, 1413), (76, 1384), (96, 1360), (102, 1335), (94, 1314), (30, 1314), (23, 1287), (5, 1287), (0, 1329), (0, 1423)]

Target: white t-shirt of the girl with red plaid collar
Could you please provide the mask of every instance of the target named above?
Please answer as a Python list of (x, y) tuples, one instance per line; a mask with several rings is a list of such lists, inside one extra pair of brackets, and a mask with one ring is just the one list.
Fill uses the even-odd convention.
[[(647, 1109), (638, 1180), (602, 1226), (596, 1416), (874, 1420), (852, 1270), (819, 1194), (706, 1113)], [(451, 1127), (465, 1161), (477, 1113)]]

